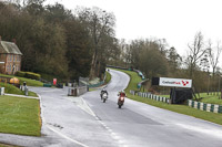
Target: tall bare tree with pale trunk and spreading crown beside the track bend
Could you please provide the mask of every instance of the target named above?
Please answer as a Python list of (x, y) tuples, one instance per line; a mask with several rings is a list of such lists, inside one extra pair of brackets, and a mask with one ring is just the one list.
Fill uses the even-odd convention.
[(114, 35), (113, 27), (115, 24), (115, 17), (113, 13), (107, 12), (99, 8), (82, 8), (77, 9), (77, 13), (83, 24), (88, 25), (89, 32), (93, 42), (92, 61), (90, 70), (90, 78), (97, 76), (97, 65), (99, 48), (103, 35)]

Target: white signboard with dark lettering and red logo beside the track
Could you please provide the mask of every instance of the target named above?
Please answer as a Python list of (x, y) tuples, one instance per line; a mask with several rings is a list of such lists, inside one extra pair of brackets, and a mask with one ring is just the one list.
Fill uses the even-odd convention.
[(192, 87), (192, 80), (160, 77), (160, 86)]

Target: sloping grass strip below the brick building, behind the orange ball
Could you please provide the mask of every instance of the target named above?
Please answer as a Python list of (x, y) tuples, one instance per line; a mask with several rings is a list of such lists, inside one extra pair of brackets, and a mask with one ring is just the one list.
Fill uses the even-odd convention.
[(26, 77), (19, 77), (19, 76), (14, 76), (14, 75), (6, 75), (6, 74), (0, 74), (0, 76), (3, 76), (3, 77), (17, 77), (17, 78), (19, 78), (19, 83), (20, 84), (23, 84), (23, 82), (26, 82), (28, 86), (43, 86), (42, 82), (36, 81), (36, 80), (30, 80), (30, 78), (26, 78)]

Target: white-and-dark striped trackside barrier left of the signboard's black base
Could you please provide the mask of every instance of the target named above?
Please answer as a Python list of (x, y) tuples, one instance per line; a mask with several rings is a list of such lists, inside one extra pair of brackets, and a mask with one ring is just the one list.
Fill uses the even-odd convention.
[(135, 91), (130, 91), (130, 93), (132, 95), (138, 95), (138, 96), (141, 96), (141, 97), (147, 97), (147, 98), (151, 98), (151, 99), (154, 99), (154, 101), (160, 101), (160, 102), (163, 102), (163, 103), (170, 103), (170, 98), (167, 98), (167, 97), (162, 97), (162, 96), (159, 96), (159, 95), (154, 95), (154, 94), (151, 94), (151, 93), (142, 93), (142, 92), (135, 92)]

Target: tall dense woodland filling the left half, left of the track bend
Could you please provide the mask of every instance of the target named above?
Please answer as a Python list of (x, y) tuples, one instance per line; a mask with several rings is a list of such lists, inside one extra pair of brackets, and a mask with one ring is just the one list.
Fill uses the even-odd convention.
[(114, 14), (99, 8), (77, 8), (72, 13), (60, 3), (43, 2), (0, 2), (0, 35), (16, 39), (23, 54), (21, 70), (61, 80), (102, 77), (105, 56), (118, 42)]

